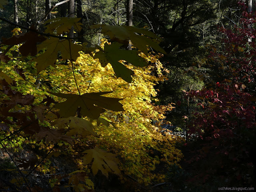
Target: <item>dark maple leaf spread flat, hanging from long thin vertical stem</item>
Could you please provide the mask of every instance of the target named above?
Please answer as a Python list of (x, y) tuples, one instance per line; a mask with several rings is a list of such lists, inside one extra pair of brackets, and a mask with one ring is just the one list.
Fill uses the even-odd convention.
[(112, 111), (124, 111), (122, 104), (118, 102), (122, 99), (101, 96), (108, 93), (112, 93), (112, 91), (85, 93), (82, 95), (63, 93), (50, 94), (67, 99), (65, 102), (55, 105), (55, 108), (60, 109), (60, 116), (64, 118), (75, 116), (80, 106), (80, 114), (82, 116), (97, 119), (100, 114), (105, 111), (103, 108)]

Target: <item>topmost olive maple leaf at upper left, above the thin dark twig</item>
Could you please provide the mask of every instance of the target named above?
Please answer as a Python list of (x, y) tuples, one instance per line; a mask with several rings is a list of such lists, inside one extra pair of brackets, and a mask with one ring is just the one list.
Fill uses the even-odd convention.
[(72, 17), (59, 17), (54, 19), (49, 19), (44, 24), (46, 25), (45, 33), (53, 33), (56, 30), (57, 34), (63, 34), (64, 32), (70, 32), (71, 26), (74, 26), (74, 29), (80, 31), (82, 29), (82, 23), (78, 23), (81, 18), (72, 18)]

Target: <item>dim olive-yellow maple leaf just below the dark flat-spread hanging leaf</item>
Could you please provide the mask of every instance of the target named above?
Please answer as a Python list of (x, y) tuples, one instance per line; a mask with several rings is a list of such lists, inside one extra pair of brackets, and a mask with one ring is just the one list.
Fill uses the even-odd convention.
[(88, 135), (99, 137), (98, 134), (96, 134), (96, 132), (92, 130), (92, 128), (94, 128), (92, 123), (83, 118), (78, 118), (78, 117), (59, 118), (56, 121), (54, 121), (53, 124), (58, 128), (65, 128), (66, 126), (69, 125), (70, 130), (66, 134), (68, 136), (79, 134), (83, 138), (85, 138)]

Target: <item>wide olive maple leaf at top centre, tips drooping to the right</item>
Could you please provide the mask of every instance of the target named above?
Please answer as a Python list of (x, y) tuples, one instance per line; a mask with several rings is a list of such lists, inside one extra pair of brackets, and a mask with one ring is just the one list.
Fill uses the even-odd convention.
[[(100, 27), (102, 28), (101, 32), (104, 35), (108, 35), (111, 40), (122, 44), (128, 44), (128, 41), (130, 40), (136, 48), (145, 54), (148, 54), (147, 45), (158, 52), (166, 54), (166, 52), (159, 46), (160, 38), (156, 34), (144, 28), (136, 28), (132, 26), (110, 26), (106, 24), (90, 26), (92, 29)], [(143, 34), (143, 36), (138, 34)]]

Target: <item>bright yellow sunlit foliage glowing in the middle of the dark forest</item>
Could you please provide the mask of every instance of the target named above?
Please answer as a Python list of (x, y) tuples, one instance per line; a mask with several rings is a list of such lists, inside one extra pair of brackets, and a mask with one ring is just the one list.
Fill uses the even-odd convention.
[[(74, 64), (81, 94), (114, 91), (104, 96), (122, 98), (120, 103), (125, 110), (104, 112), (102, 117), (113, 122), (116, 127), (102, 124), (97, 126), (94, 120), (92, 122), (96, 127), (94, 131), (100, 137), (85, 138), (81, 143), (86, 146), (85, 143), (90, 141), (98, 148), (117, 154), (122, 172), (146, 185), (152, 180), (161, 181), (164, 178), (161, 172), (154, 173), (159, 164), (167, 166), (178, 163), (182, 158), (180, 150), (175, 148), (176, 142), (182, 139), (171, 134), (161, 134), (153, 124), (153, 120), (160, 121), (165, 117), (164, 111), (173, 108), (171, 105), (154, 106), (151, 102), (157, 95), (154, 85), (163, 79), (159, 56), (142, 55), (151, 61), (151, 65), (145, 68), (126, 64), (126, 67), (134, 71), (132, 83), (127, 83), (121, 78), (117, 79), (110, 64), (103, 68), (98, 60), (93, 60), (88, 54), (80, 53)], [(157, 71), (159, 77), (152, 75), (153, 69)], [(50, 70), (48, 75), (53, 87), (59, 87), (62, 92), (78, 94), (70, 64), (59, 64), (56, 69)], [(80, 168), (81, 166), (80, 164)], [(122, 179), (126, 180), (126, 177)]]

